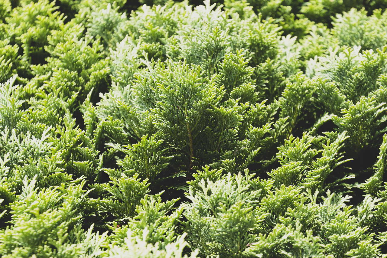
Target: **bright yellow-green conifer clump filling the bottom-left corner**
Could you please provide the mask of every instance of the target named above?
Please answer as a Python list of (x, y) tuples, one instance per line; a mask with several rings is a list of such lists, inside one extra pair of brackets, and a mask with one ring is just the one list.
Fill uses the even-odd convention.
[(106, 234), (82, 229), (85, 181), (34, 189), (36, 177), (23, 180), (22, 192), (10, 205), (11, 225), (0, 231), (4, 257), (95, 257)]

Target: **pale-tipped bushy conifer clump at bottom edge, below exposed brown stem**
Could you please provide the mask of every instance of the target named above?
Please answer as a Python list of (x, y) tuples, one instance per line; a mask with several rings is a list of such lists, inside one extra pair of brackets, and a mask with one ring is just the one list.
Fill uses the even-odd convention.
[(245, 256), (254, 239), (250, 229), (267, 215), (253, 210), (260, 189), (251, 189), (252, 176), (228, 174), (214, 182), (202, 179), (195, 194), (188, 191), (187, 240), (201, 255)]

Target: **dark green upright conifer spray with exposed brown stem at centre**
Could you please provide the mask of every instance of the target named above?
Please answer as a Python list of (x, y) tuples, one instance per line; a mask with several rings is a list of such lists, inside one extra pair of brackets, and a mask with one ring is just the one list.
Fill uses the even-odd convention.
[[(206, 87), (200, 78), (200, 70), (189, 69), (185, 63), (168, 64), (170, 69), (161, 74), (163, 64), (154, 67), (160, 74), (155, 93), (158, 95), (155, 108), (156, 128), (163, 132), (173, 148), (189, 156), (188, 168), (192, 166), (196, 142), (202, 142), (200, 132), (209, 116), (207, 108), (217, 105), (221, 96), (215, 86)], [(186, 76), (185, 76), (186, 75)]]

